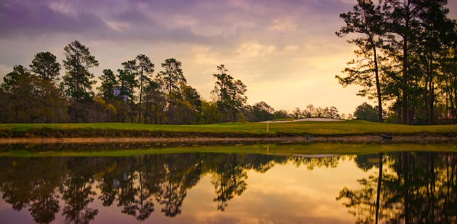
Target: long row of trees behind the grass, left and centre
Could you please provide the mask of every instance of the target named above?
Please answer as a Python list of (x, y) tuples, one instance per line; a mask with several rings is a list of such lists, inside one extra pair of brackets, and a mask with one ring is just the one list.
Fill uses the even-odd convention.
[[(82, 123), (130, 122), (146, 124), (206, 124), (255, 122), (272, 119), (328, 117), (340, 119), (336, 107), (295, 108), (275, 111), (264, 101), (246, 104), (246, 85), (217, 66), (213, 101), (202, 99), (188, 85), (182, 63), (166, 59), (162, 70), (144, 54), (121, 63), (113, 71), (106, 68), (97, 83), (90, 68), (99, 62), (89, 48), (72, 41), (64, 48), (62, 65), (50, 52), (35, 54), (29, 68), (15, 65), (3, 78), (0, 88), (1, 123)], [(343, 117), (344, 118), (344, 117)]]

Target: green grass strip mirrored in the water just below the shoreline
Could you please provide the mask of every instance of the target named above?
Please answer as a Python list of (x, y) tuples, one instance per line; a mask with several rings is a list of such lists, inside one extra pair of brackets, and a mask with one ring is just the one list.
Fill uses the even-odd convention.
[(86, 149), (84, 151), (52, 151), (39, 152), (26, 149), (3, 150), (0, 157), (43, 157), (43, 156), (137, 156), (144, 154), (173, 153), (237, 153), (237, 154), (378, 154), (380, 152), (457, 152), (457, 145), (451, 143), (438, 144), (348, 144), (348, 143), (307, 143), (295, 145), (232, 145), (232, 146), (190, 146), (170, 148), (132, 148), (132, 149)]

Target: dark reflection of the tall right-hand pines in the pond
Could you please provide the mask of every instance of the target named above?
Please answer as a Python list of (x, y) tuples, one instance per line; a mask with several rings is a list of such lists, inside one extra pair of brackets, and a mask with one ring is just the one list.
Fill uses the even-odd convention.
[[(376, 222), (376, 210), (387, 223), (456, 223), (456, 160), (455, 152), (389, 154), (380, 163), (387, 165), (384, 172), (360, 179), (362, 189), (344, 187), (337, 199), (346, 199), (343, 204), (360, 223)], [(367, 167), (366, 159), (356, 161)]]

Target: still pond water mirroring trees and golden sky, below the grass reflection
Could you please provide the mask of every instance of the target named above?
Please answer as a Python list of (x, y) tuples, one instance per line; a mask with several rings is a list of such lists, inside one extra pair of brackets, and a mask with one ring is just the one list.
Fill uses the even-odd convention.
[(457, 152), (0, 157), (0, 223), (456, 223)]

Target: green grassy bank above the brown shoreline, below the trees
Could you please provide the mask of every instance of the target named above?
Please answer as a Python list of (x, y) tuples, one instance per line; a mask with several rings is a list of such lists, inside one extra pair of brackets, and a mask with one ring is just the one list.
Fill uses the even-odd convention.
[(0, 138), (17, 137), (282, 137), (355, 136), (369, 134), (447, 136), (457, 125), (398, 125), (368, 121), (212, 125), (144, 125), (132, 123), (0, 124)]

